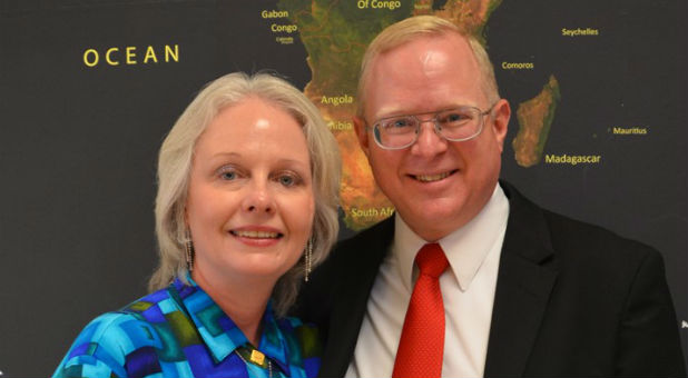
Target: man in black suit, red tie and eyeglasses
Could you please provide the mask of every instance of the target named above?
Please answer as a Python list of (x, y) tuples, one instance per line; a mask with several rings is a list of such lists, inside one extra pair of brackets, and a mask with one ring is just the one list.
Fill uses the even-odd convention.
[(499, 181), (511, 110), (434, 17), (368, 47), (355, 130), (396, 208), (316, 270), (324, 377), (684, 376), (660, 255)]

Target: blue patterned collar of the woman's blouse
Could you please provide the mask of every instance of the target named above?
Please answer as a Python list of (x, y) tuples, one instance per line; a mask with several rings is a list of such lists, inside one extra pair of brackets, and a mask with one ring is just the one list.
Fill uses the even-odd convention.
[[(244, 332), (191, 279), (190, 275), (187, 275), (186, 279), (188, 285), (175, 278), (171, 286), (215, 360), (219, 362), (236, 348), (249, 344)], [(275, 319), (272, 300), (268, 301), (263, 315), (263, 335), (257, 349), (276, 362), (287, 377), (291, 376), (286, 339)]]

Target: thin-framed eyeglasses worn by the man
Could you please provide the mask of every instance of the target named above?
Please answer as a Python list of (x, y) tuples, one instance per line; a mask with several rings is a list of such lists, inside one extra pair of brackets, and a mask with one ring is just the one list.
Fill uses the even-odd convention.
[[(489, 115), (492, 108), (494, 105), (482, 111), (479, 108), (465, 106), (436, 112), (387, 117), (373, 123), (373, 136), (377, 146), (386, 150), (400, 150), (415, 143), (421, 125), (432, 121), (435, 125), (435, 132), (446, 140), (471, 140), (482, 132), (484, 116)], [(419, 116), (424, 115), (434, 115), (434, 117), (427, 120), (419, 119)]]

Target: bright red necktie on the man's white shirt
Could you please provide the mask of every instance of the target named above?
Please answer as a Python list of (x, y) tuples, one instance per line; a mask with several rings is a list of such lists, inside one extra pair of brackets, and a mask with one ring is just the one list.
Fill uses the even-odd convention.
[(440, 245), (423, 246), (415, 256), (415, 281), (402, 329), (393, 378), (431, 378), (442, 375), (444, 304), (439, 277), (449, 266)]

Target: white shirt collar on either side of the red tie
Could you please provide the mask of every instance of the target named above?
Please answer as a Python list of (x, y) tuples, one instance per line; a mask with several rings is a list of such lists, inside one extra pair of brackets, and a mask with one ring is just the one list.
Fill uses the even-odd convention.
[[(438, 241), (462, 291), (469, 289), (488, 252), (501, 241), (500, 231), (507, 227), (508, 218), (509, 200), (498, 183), (488, 203), (471, 221)], [(399, 213), (394, 222), (392, 251), (397, 259), (401, 280), (411, 291), (417, 276), (417, 268), (413, 261), (427, 241), (413, 232)]]

